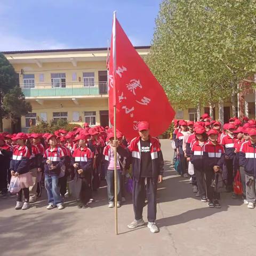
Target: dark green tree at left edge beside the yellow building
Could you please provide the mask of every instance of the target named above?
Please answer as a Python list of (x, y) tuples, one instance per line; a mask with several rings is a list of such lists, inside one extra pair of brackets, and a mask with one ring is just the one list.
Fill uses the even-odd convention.
[(0, 53), (0, 131), (3, 131), (3, 118), (11, 118), (13, 123), (31, 111), (18, 86), (17, 74), (11, 63)]

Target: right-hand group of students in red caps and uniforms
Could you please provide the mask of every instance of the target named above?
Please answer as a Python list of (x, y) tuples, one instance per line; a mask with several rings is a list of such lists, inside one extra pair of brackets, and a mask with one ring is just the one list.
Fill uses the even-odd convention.
[[(256, 121), (243, 117), (221, 124), (204, 114), (199, 122), (174, 120), (172, 134), (176, 169), (190, 178), (192, 190), (208, 206), (220, 208), (220, 188), (242, 197), (253, 209), (256, 201)], [(237, 175), (238, 174), (238, 175)], [(237, 190), (237, 184), (240, 185)], [(239, 191), (239, 194), (237, 194)]]

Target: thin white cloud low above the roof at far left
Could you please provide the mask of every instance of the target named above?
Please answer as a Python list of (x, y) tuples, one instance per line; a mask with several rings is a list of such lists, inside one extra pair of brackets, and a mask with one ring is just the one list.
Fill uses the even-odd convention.
[(0, 51), (26, 51), (26, 50), (52, 50), (67, 49), (65, 43), (57, 42), (54, 39), (26, 39), (21, 36), (10, 35), (0, 32)]

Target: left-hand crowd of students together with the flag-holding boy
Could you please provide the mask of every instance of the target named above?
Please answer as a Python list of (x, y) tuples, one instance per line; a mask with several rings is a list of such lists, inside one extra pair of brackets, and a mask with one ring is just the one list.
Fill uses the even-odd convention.
[[(138, 124), (138, 137), (126, 141), (123, 134), (102, 126), (74, 127), (73, 131), (54, 134), (0, 134), (0, 192), (6, 198), (12, 179), (19, 180), (16, 210), (27, 210), (47, 191), (47, 209), (64, 208), (70, 192), (77, 207), (93, 202), (93, 191), (107, 181), (108, 207), (115, 206), (114, 151), (117, 151), (117, 207), (125, 201), (124, 180), (132, 169), (135, 220), (128, 228), (142, 226), (142, 210), (148, 200), (148, 228), (158, 232), (156, 219), (157, 183), (162, 182), (163, 155), (158, 139), (149, 135), (149, 123)], [(68, 182), (69, 181), (69, 182)], [(72, 186), (71, 186), (72, 185)], [(69, 193), (68, 193), (69, 191)], [(24, 199), (23, 199), (24, 198)]]

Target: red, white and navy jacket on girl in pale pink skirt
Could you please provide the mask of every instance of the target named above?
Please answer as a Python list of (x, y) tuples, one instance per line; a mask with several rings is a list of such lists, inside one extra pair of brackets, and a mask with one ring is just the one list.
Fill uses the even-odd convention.
[(10, 171), (24, 174), (29, 172), (31, 153), (26, 145), (14, 147), (10, 163)]

